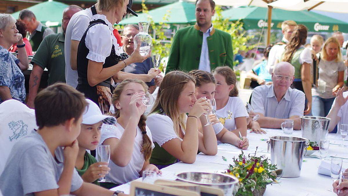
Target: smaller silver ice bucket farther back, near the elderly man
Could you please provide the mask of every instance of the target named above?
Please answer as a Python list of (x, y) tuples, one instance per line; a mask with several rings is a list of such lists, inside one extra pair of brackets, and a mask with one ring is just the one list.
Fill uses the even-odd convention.
[(319, 146), (320, 140), (326, 138), (331, 119), (318, 116), (300, 116), (300, 119), (302, 137)]

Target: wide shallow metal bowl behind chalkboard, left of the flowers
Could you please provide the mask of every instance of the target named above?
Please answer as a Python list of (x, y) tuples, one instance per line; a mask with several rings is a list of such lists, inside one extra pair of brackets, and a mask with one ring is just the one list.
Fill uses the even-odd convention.
[(239, 182), (234, 176), (209, 172), (182, 172), (175, 174), (175, 178), (183, 182), (222, 189), (226, 196), (232, 196), (233, 189)]

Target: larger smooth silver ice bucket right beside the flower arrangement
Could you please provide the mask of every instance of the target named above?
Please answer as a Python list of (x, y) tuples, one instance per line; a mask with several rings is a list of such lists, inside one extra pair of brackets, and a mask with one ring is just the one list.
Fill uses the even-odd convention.
[(307, 139), (300, 137), (272, 136), (267, 141), (271, 147), (271, 162), (277, 165), (279, 177), (297, 178), (301, 174), (304, 149), (308, 147)]

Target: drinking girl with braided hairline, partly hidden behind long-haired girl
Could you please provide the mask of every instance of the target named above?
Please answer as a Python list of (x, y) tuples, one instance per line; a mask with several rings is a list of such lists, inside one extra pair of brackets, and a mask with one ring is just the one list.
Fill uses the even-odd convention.
[[(213, 74), (203, 70), (192, 70), (189, 74), (196, 80), (196, 92), (197, 99), (206, 97), (209, 100), (214, 99), (215, 96), (215, 78)], [(249, 141), (246, 137), (240, 140), (239, 136), (228, 131), (223, 127), (222, 123), (217, 119), (215, 114), (210, 114), (210, 121), (213, 124), (213, 129), (216, 134), (216, 139), (222, 143), (229, 143), (237, 146), (238, 148), (247, 149)], [(202, 132), (202, 125), (198, 120), (198, 130)]]

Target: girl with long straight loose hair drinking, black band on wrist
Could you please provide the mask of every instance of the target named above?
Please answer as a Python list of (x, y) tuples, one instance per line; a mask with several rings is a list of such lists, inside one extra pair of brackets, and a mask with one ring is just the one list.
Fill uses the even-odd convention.
[[(205, 99), (195, 97), (195, 79), (182, 71), (166, 74), (146, 121), (155, 143), (150, 163), (163, 168), (178, 159), (194, 163), (198, 151), (215, 155), (215, 132), (212, 125), (204, 126), (207, 122), (203, 114), (209, 111), (211, 105)], [(198, 118), (203, 134), (198, 131)]]

